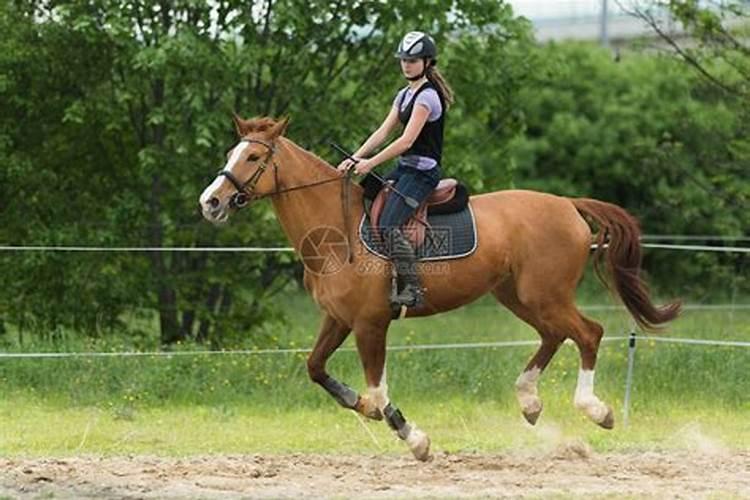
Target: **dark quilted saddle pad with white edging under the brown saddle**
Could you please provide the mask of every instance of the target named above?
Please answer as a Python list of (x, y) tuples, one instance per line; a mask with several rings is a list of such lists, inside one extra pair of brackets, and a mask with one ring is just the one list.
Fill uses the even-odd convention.
[[(359, 223), (359, 238), (370, 253), (388, 259), (382, 241), (373, 234), (370, 225), (369, 202), (365, 202), (365, 213)], [(417, 260), (458, 259), (474, 253), (477, 249), (477, 228), (471, 204), (460, 212), (428, 215), (430, 227), (424, 243), (415, 250)]]

